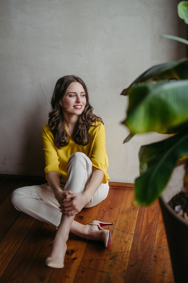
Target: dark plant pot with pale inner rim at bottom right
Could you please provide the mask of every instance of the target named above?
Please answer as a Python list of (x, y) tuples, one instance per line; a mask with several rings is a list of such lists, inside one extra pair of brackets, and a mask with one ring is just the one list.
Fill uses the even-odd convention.
[(168, 239), (175, 283), (188, 282), (188, 221), (178, 216), (168, 202), (184, 191), (185, 164), (177, 166), (159, 198)]

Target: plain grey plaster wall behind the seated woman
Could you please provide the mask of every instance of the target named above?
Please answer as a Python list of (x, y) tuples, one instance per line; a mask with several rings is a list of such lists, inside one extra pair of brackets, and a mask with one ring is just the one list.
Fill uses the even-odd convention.
[(57, 79), (86, 82), (94, 113), (106, 129), (112, 181), (134, 182), (140, 145), (164, 139), (136, 135), (120, 122), (128, 97), (120, 96), (152, 65), (185, 57), (186, 36), (175, 0), (1, 0), (0, 173), (44, 175), (41, 130), (48, 121)]

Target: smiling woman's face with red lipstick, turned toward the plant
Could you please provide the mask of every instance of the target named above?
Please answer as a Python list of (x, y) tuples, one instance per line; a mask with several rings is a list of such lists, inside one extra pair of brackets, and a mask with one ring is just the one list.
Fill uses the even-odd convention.
[(65, 113), (80, 115), (86, 105), (86, 93), (79, 82), (72, 82), (63, 97), (63, 111)]

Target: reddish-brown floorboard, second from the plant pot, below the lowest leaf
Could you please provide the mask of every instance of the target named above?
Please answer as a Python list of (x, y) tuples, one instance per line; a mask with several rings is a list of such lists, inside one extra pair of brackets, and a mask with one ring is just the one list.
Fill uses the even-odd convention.
[(158, 201), (139, 208), (125, 282), (151, 281), (158, 210)]

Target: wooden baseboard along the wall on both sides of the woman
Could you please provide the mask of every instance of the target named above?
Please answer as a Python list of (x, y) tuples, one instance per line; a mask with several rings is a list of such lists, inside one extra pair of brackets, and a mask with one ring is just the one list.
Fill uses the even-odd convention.
[[(45, 177), (40, 176), (25, 176), (25, 175), (10, 175), (10, 174), (0, 174), (0, 180), (36, 180), (46, 182)], [(109, 182), (110, 187), (122, 188), (122, 189), (134, 189), (133, 183), (121, 183), (121, 182)]]

